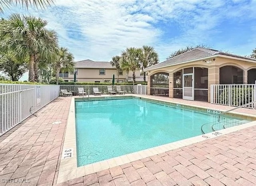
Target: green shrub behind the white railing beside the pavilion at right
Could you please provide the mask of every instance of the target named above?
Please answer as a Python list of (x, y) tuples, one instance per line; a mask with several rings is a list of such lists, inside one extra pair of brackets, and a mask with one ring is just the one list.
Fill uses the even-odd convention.
[[(219, 102), (220, 104), (230, 104), (230, 105), (243, 105), (252, 102), (252, 88), (231, 88), (231, 94), (229, 94), (229, 88), (224, 88), (220, 93)], [(229, 95), (231, 103), (229, 103)]]

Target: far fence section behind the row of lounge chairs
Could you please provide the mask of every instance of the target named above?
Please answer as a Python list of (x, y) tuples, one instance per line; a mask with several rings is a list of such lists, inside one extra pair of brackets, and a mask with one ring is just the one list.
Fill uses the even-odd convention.
[[(108, 86), (112, 85), (60, 85), (60, 90), (65, 89), (68, 92), (78, 92), (78, 88), (84, 88), (86, 94), (93, 94), (93, 88), (97, 87), (102, 94), (107, 94)], [(147, 94), (147, 85), (114, 85), (113, 90), (116, 90), (116, 86), (120, 86), (122, 91), (127, 94)]]

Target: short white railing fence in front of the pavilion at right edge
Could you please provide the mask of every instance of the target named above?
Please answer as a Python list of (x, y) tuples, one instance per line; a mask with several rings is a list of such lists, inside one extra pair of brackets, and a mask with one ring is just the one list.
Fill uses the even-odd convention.
[[(256, 84), (211, 85), (211, 103), (228, 106), (242, 106), (256, 100)], [(248, 108), (256, 108), (252, 103)]]

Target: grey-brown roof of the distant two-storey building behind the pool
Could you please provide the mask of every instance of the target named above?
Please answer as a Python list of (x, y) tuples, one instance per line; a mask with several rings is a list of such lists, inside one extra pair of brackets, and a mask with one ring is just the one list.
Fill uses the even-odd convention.
[(115, 66), (112, 66), (110, 62), (107, 61), (92, 61), (92, 60), (82, 60), (76, 62), (75, 68), (113, 68), (116, 69)]

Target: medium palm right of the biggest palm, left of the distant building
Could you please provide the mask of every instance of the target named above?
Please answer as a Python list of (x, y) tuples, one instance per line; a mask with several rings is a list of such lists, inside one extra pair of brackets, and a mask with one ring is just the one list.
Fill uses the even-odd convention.
[(52, 62), (52, 69), (55, 74), (56, 84), (58, 84), (59, 73), (66, 71), (74, 71), (74, 56), (71, 52), (68, 52), (68, 49), (65, 47), (60, 47), (57, 52), (57, 59)]

